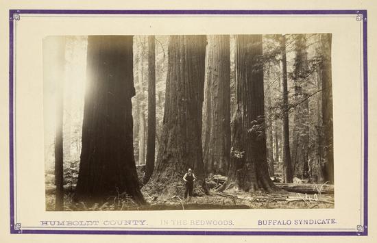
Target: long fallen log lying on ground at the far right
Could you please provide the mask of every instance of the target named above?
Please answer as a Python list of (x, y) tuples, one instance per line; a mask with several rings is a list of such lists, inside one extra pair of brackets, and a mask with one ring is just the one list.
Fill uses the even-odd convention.
[(294, 183), (275, 183), (278, 188), (288, 192), (297, 192), (302, 194), (334, 194), (334, 185), (328, 184), (294, 184)]

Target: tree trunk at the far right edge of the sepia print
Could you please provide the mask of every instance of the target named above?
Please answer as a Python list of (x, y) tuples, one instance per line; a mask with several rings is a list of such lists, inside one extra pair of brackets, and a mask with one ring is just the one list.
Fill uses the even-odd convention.
[(334, 147), (332, 125), (332, 74), (331, 74), (331, 34), (320, 36), (323, 63), (321, 65), (322, 78), (322, 126), (324, 129), (324, 166), (322, 173), (324, 181), (334, 183)]

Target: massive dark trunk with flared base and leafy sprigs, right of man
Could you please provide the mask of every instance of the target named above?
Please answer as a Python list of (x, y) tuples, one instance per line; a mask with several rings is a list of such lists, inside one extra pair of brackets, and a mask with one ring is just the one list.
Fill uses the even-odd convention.
[(236, 117), (230, 171), (219, 190), (278, 190), (267, 164), (262, 50), (262, 35), (236, 36)]

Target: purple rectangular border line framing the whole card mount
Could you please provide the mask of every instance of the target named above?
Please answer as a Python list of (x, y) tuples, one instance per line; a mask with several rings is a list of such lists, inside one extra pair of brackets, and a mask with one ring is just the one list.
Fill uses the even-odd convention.
[[(9, 10), (9, 121), (10, 121), (10, 233), (89, 234), (89, 235), (367, 235), (368, 223), (368, 85), (367, 85), (367, 10)], [(364, 81), (364, 225), (361, 232), (350, 231), (88, 231), (14, 229), (14, 14), (363, 14), (363, 81)]]

